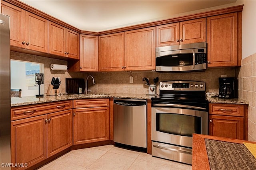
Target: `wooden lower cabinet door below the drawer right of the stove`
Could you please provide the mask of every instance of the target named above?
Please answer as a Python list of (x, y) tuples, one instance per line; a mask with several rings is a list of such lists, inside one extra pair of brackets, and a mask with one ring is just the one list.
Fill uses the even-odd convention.
[(244, 117), (209, 115), (209, 120), (209, 135), (244, 140)]

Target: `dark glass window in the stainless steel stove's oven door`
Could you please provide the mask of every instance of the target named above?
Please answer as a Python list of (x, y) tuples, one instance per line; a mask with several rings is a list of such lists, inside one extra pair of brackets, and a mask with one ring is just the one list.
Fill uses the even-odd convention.
[(201, 117), (174, 113), (156, 113), (156, 130), (192, 137), (193, 133), (201, 134)]

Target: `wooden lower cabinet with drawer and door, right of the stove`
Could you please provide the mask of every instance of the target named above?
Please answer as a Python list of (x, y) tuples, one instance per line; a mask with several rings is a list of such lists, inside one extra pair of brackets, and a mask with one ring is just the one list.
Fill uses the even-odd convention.
[(247, 105), (210, 103), (209, 135), (247, 140)]

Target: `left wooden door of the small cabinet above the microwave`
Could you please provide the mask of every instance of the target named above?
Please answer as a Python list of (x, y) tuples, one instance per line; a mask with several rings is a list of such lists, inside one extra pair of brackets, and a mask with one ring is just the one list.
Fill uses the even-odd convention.
[(156, 47), (179, 45), (179, 23), (170, 23), (156, 27)]

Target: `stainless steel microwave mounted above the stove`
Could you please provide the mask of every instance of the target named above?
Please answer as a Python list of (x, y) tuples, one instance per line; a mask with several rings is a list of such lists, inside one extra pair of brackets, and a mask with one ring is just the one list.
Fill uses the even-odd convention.
[(156, 47), (157, 72), (206, 70), (206, 42)]

